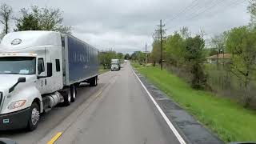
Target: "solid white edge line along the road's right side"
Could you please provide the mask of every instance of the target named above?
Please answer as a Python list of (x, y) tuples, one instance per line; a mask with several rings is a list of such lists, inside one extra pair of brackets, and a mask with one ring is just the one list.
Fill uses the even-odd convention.
[[(133, 69), (131, 69), (131, 70), (133, 70)], [(133, 70), (133, 72), (134, 72), (134, 70)], [(138, 78), (138, 75), (135, 72), (134, 72), (134, 75), (136, 76), (136, 78)], [(178, 131), (175, 129), (174, 125), (170, 122), (169, 118), (167, 118), (166, 114), (162, 111), (162, 109), (160, 108), (158, 103), (155, 102), (155, 100), (152, 97), (152, 95), (150, 94), (149, 90), (146, 89), (146, 86), (144, 86), (144, 84), (142, 83), (142, 81), (139, 78), (138, 78), (138, 81), (141, 82), (142, 87), (144, 88), (144, 90), (146, 90), (146, 93), (150, 96), (150, 99), (154, 102), (154, 105), (158, 108), (160, 114), (162, 114), (162, 117), (166, 120), (167, 125), (170, 127), (170, 130), (172, 130), (173, 133), (175, 134), (176, 138), (178, 139), (178, 142), (180, 142), (181, 144), (186, 144), (186, 142), (184, 141), (182, 136), (180, 134), (178, 134)]]

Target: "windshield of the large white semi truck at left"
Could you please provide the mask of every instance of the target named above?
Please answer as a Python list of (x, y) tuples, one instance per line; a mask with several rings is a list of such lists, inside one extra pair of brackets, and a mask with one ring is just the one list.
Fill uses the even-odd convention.
[(35, 74), (35, 59), (34, 57), (2, 57), (0, 74)]

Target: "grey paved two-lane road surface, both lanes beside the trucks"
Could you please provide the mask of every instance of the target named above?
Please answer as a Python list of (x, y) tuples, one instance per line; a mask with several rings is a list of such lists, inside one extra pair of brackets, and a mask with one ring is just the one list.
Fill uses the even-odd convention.
[(10, 131), (0, 137), (19, 143), (179, 143), (134, 76), (130, 64), (100, 76), (96, 87), (80, 87), (78, 99), (42, 116), (34, 132)]

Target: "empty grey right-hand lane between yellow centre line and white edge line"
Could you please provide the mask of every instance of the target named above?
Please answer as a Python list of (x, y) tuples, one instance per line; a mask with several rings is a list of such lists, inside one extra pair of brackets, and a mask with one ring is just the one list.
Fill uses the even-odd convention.
[(122, 70), (103, 74), (102, 78), (108, 79), (107, 85), (70, 125), (63, 124), (65, 129), (60, 126), (59, 131), (64, 131), (56, 143), (179, 143), (134, 75), (130, 63)]

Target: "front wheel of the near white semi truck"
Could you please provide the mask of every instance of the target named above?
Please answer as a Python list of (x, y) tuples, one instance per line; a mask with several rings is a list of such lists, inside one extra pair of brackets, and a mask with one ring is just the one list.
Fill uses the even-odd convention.
[(39, 106), (36, 102), (33, 102), (30, 107), (30, 118), (27, 124), (27, 130), (33, 131), (38, 126), (38, 121), (40, 118)]

